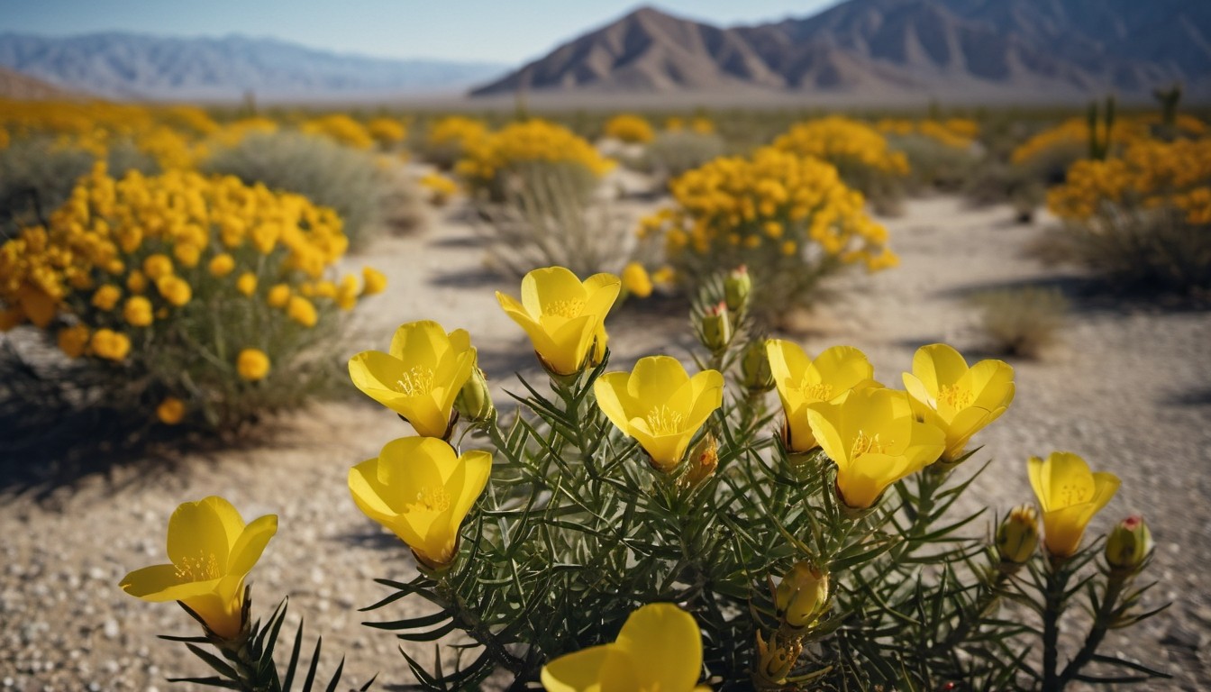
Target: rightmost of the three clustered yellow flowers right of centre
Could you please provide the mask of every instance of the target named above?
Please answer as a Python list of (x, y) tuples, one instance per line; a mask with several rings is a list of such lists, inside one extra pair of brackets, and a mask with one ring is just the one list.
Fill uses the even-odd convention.
[(1014, 401), (1014, 368), (999, 360), (971, 367), (946, 344), (917, 349), (912, 374), (903, 373), (913, 410), (946, 433), (943, 463), (963, 456), (971, 436), (1005, 412)]

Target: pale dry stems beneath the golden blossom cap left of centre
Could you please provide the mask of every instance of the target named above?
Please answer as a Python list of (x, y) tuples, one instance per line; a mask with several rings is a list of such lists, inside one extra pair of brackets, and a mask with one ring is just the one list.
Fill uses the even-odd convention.
[(574, 179), (538, 176), (509, 188), (501, 202), (477, 205), (492, 242), (488, 264), (521, 278), (535, 267), (559, 264), (578, 274), (620, 271), (635, 235), (631, 222), (608, 200), (589, 200)]

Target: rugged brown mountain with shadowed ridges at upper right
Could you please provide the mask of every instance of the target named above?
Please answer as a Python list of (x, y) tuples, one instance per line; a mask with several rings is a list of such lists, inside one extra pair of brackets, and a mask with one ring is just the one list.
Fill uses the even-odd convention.
[(642, 7), (475, 88), (511, 93), (768, 92), (974, 99), (1211, 98), (1205, 0), (849, 0), (719, 28)]

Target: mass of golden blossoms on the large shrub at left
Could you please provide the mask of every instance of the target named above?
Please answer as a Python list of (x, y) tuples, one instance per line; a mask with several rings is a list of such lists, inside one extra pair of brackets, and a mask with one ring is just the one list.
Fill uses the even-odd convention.
[(223, 296), (264, 299), (312, 327), (317, 301), (351, 309), (374, 292), (371, 279), (325, 279), (348, 246), (340, 227), (331, 208), (234, 177), (115, 179), (98, 164), (45, 227), (0, 246), (0, 304), (6, 325), (69, 325), (64, 353), (110, 360)]

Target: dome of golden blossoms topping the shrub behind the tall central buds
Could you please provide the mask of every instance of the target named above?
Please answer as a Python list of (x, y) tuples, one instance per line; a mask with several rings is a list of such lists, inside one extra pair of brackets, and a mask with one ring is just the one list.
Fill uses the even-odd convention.
[(862, 194), (823, 161), (763, 148), (752, 158), (721, 158), (670, 184), (676, 206), (641, 222), (661, 234), (675, 265), (687, 255), (767, 264), (764, 256), (803, 258), (819, 251), (871, 270), (896, 264), (886, 230), (863, 212)]

